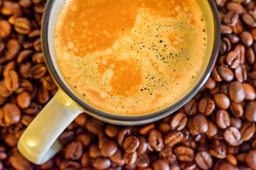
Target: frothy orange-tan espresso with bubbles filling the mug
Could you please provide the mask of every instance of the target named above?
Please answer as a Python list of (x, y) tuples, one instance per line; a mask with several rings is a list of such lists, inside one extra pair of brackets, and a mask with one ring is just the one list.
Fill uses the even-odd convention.
[(55, 55), (85, 102), (110, 113), (149, 113), (191, 86), (207, 32), (196, 0), (68, 0), (55, 26)]

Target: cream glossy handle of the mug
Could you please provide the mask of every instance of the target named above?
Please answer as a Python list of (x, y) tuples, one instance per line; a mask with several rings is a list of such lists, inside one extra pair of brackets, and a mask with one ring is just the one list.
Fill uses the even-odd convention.
[(23, 132), (18, 150), (34, 164), (47, 162), (62, 148), (58, 136), (82, 111), (82, 107), (59, 89)]

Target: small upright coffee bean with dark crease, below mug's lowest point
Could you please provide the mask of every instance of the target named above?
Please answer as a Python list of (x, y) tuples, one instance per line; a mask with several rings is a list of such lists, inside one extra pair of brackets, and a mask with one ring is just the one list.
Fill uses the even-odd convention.
[(139, 147), (139, 139), (135, 136), (126, 137), (123, 142), (124, 151), (127, 153), (134, 152)]

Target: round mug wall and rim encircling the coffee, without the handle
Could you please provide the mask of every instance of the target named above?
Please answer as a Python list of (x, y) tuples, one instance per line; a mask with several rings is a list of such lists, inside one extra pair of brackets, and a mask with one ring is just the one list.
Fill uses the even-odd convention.
[(166, 115), (174, 113), (176, 110), (178, 110), (178, 108), (181, 108), (181, 106), (191, 100), (191, 98), (196, 95), (196, 93), (201, 89), (201, 86), (203, 86), (210, 76), (210, 72), (213, 69), (216, 56), (218, 54), (220, 42), (220, 22), (218, 20), (218, 10), (213, 0), (197, 0), (206, 18), (208, 28), (208, 48), (206, 58), (203, 62), (203, 67), (201, 67), (201, 71), (187, 91), (184, 91), (184, 93), (179, 96), (176, 101), (169, 103), (168, 106), (161, 108), (161, 110), (153, 111), (151, 113), (144, 113), (141, 115), (117, 115), (116, 113), (109, 113), (102, 111), (99, 108), (95, 108), (95, 106), (90, 105), (90, 103), (85, 103), (85, 101), (82, 100), (78, 94), (75, 94), (73, 89), (71, 89), (68, 83), (65, 81), (55, 57), (55, 23), (58, 19), (58, 13), (60, 12), (65, 1), (67, 0), (52, 0), (48, 1), (46, 5), (42, 27), (43, 52), (45, 54), (48, 70), (53, 79), (55, 79), (55, 82), (61, 89), (63, 89), (63, 91), (65, 91), (66, 94), (68, 94), (68, 96), (70, 96), (70, 98), (83, 106), (87, 113), (92, 114), (101, 120), (123, 125), (137, 125), (159, 120), (166, 117)]

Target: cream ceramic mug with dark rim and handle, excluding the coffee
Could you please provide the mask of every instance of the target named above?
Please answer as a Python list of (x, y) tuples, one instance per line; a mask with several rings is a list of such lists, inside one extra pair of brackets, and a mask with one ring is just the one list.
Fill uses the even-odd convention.
[(58, 136), (82, 112), (117, 125), (142, 125), (174, 113), (191, 100), (206, 82), (215, 64), (220, 45), (220, 21), (215, 2), (214, 0), (198, 0), (198, 4), (200, 4), (206, 17), (208, 31), (212, 34), (208, 35), (206, 60), (201, 72), (188, 91), (184, 92), (174, 103), (159, 111), (144, 115), (107, 113), (91, 106), (89, 103), (85, 103), (82, 98), (75, 94), (65, 82), (58, 68), (54, 50), (54, 30), (58, 13), (64, 2), (65, 0), (50, 0), (47, 2), (41, 29), (45, 61), (48, 71), (59, 89), (18, 140), (19, 151), (34, 164), (43, 164), (60, 151), (62, 145), (58, 142)]

